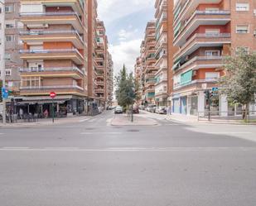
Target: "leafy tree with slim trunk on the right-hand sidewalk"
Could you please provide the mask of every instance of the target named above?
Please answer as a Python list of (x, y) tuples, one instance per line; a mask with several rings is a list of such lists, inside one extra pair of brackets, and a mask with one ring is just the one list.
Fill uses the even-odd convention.
[(230, 103), (244, 106), (243, 119), (247, 120), (249, 104), (255, 103), (256, 53), (240, 49), (237, 55), (225, 59), (225, 76), (220, 78), (220, 93), (227, 95)]

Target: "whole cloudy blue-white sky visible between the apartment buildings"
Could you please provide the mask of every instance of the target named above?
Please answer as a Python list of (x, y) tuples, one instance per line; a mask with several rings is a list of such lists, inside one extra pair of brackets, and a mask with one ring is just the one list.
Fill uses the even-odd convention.
[(113, 55), (114, 71), (125, 64), (133, 71), (148, 21), (154, 17), (154, 0), (98, 0)]

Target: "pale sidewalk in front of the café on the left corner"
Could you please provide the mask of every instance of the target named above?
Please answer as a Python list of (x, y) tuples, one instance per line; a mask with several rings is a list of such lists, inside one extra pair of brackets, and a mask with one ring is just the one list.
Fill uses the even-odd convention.
[(60, 125), (66, 123), (76, 123), (76, 122), (84, 122), (89, 119), (89, 116), (80, 116), (80, 117), (65, 117), (65, 118), (56, 118), (55, 122), (52, 122), (51, 118), (48, 119), (38, 119), (38, 122), (15, 122), (15, 123), (7, 123), (3, 125), (0, 123), (0, 127), (38, 127), (38, 126), (51, 126), (51, 125)]

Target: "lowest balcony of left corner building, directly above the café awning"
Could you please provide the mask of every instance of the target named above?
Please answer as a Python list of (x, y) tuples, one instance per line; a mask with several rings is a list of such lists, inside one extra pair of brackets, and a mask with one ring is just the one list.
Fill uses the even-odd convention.
[(21, 87), (21, 95), (35, 96), (35, 95), (49, 95), (52, 91), (59, 94), (75, 94), (84, 96), (84, 90), (77, 85), (58, 85), (58, 86), (30, 86)]

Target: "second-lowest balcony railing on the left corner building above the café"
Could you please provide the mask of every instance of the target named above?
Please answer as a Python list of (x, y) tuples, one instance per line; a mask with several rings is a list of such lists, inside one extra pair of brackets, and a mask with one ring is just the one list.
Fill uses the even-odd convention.
[(21, 73), (31, 73), (31, 72), (47, 72), (47, 71), (77, 71), (80, 74), (85, 74), (85, 72), (77, 67), (52, 67), (52, 68), (20, 68)]

